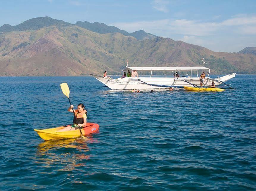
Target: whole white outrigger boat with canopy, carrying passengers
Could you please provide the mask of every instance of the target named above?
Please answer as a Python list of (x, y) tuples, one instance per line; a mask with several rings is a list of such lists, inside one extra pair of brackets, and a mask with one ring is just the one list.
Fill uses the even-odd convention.
[[(163, 89), (169, 87), (178, 87), (183, 88), (183, 86), (188, 87), (198, 87), (200, 86), (200, 75), (198, 74), (198, 70), (208, 71), (208, 76), (205, 77), (203, 81), (203, 86), (212, 85), (212, 81), (215, 81), (216, 85), (225, 84), (224, 82), (234, 78), (236, 73), (228, 74), (226, 76), (218, 77), (218, 78), (209, 78), (210, 69), (202, 66), (195, 67), (126, 67), (124, 71), (147, 71), (150, 72), (150, 77), (125, 77), (125, 78), (109, 78), (102, 77), (91, 74), (98, 81), (108, 86), (110, 89)], [(186, 75), (185, 77), (178, 77), (178, 72), (190, 71), (190, 75)], [(171, 71), (174, 72), (175, 77), (153, 77), (153, 71)], [(192, 71), (196, 71), (197, 77), (192, 77)], [(226, 84), (227, 85), (227, 84)], [(227, 85), (229, 86), (229, 85)]]

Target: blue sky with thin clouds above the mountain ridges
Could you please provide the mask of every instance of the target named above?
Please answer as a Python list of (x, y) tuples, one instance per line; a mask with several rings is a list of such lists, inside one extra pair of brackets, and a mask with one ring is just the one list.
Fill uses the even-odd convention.
[(256, 0), (83, 1), (1, 0), (0, 26), (49, 16), (69, 23), (97, 21), (128, 32), (182, 40), (216, 52), (256, 46)]

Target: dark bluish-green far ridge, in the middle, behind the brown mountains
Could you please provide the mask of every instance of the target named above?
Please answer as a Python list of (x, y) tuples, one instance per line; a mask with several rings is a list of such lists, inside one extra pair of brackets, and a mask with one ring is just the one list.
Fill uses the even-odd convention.
[(152, 38), (157, 37), (156, 35), (146, 33), (143, 30), (136, 31), (134, 33), (128, 33), (127, 31), (121, 30), (117, 27), (108, 26), (104, 23), (98, 23), (98, 22), (89, 23), (87, 21), (84, 21), (84, 22), (78, 21), (75, 25), (82, 27), (82, 28), (86, 28), (89, 31), (93, 31), (93, 32), (96, 32), (99, 34), (121, 33), (125, 36), (133, 36), (133, 37), (137, 38), (138, 40), (152, 39)]

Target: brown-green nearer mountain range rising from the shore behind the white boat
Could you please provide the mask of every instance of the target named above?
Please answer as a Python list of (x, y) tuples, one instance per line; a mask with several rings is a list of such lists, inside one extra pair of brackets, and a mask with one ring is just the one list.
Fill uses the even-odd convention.
[(130, 66), (198, 66), (202, 58), (211, 74), (256, 73), (253, 54), (213, 52), (170, 38), (138, 40), (65, 22), (0, 33), (0, 76), (88, 75), (105, 70), (120, 75), (127, 59)]

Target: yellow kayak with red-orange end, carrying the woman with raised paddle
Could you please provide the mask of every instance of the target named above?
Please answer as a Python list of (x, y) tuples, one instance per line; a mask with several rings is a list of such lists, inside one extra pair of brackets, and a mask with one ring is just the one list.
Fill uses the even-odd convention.
[[(61, 126), (61, 127), (41, 129), (41, 130), (34, 129), (34, 131), (36, 131), (38, 135), (45, 141), (80, 137), (81, 134), (79, 129), (76, 129), (74, 131), (58, 132), (60, 129), (63, 129), (65, 127), (66, 126)], [(100, 126), (97, 123), (87, 123), (84, 128), (81, 128), (81, 131), (83, 135), (88, 135), (98, 131), (99, 127)]]

